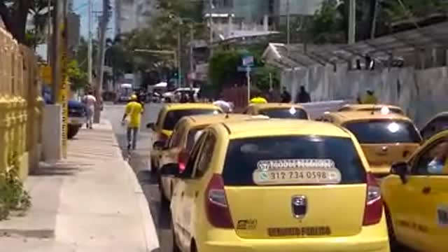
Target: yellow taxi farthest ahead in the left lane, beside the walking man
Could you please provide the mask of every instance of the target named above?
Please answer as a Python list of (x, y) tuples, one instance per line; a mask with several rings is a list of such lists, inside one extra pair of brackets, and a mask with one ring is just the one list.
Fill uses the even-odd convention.
[(174, 126), (184, 116), (194, 115), (210, 115), (223, 113), (223, 110), (214, 104), (201, 103), (185, 103), (185, 104), (165, 104), (160, 109), (157, 121), (155, 123), (148, 123), (146, 127), (151, 128), (153, 134), (153, 151), (151, 151), (151, 172), (158, 171), (159, 159), (155, 157), (160, 155), (160, 151), (164, 148), (167, 140), (171, 137)]

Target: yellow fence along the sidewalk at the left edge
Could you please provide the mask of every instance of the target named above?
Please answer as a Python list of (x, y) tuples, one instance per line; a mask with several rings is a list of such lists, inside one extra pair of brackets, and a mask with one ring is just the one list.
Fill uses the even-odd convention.
[(34, 52), (0, 28), (0, 173), (17, 166), (21, 179), (40, 160), (43, 99)]

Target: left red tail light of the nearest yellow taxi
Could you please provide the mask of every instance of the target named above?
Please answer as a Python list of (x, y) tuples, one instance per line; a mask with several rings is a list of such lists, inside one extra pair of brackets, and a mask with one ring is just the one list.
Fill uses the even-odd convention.
[(215, 228), (234, 228), (224, 190), (223, 178), (214, 174), (205, 191), (205, 211)]

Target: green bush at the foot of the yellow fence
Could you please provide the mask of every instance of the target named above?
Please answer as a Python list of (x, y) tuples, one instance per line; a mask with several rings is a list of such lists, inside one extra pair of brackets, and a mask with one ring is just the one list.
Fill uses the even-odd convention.
[(8, 218), (11, 211), (23, 213), (31, 207), (31, 197), (19, 179), (17, 153), (10, 153), (8, 166), (0, 174), (0, 220)]

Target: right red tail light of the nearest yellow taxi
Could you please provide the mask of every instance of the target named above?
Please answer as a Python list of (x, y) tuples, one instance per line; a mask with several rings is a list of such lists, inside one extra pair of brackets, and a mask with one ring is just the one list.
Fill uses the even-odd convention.
[(374, 225), (381, 221), (383, 215), (383, 200), (381, 190), (372, 173), (367, 173), (367, 195), (363, 225)]

